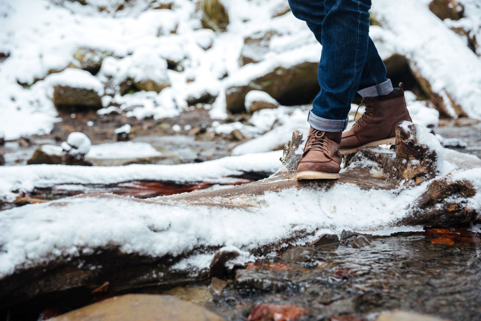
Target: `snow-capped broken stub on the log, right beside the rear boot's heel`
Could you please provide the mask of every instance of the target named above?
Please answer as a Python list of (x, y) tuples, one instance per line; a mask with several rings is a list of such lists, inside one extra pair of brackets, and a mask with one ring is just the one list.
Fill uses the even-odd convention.
[(439, 174), (443, 148), (426, 128), (403, 121), (396, 127), (396, 156), (384, 165), (384, 172), (406, 185), (419, 185)]

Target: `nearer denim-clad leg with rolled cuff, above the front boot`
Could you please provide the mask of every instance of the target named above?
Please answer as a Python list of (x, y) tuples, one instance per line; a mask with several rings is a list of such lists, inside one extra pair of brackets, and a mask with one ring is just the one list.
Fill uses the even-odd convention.
[(371, 1), (325, 0), (324, 6), (320, 91), (308, 121), (317, 130), (341, 132), (366, 64)]

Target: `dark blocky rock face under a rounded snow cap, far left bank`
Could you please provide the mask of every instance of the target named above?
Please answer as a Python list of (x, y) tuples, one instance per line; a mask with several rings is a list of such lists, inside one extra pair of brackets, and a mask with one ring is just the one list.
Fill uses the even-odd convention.
[(80, 110), (97, 110), (102, 108), (101, 97), (95, 90), (73, 88), (57, 85), (53, 87), (53, 104), (70, 111), (71, 108)]

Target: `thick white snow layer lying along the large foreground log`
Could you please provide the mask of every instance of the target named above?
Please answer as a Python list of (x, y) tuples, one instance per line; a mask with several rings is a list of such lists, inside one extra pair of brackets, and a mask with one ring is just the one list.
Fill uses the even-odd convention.
[[(480, 169), (454, 173), (449, 179), (468, 180), (481, 187)], [(367, 191), (351, 183), (322, 190), (292, 187), (246, 197), (244, 206), (240, 198), (237, 208), (169, 205), (165, 203), (168, 198), (159, 198), (160, 203), (156, 203), (127, 197), (74, 197), (26, 205), (0, 212), (0, 277), (58, 257), (79, 256), (112, 246), (125, 253), (162, 257), (202, 247), (235, 246), (250, 252), (296, 231), (314, 233), (310, 239), (326, 231), (379, 234), (418, 230), (399, 227), (397, 222), (409, 215), (412, 209), (406, 204), (414, 204), (427, 185), (424, 182), (414, 188), (390, 191)], [(467, 201), (468, 207), (481, 211), (479, 193)], [(198, 253), (202, 256), (175, 268), (208, 268), (213, 252)]]

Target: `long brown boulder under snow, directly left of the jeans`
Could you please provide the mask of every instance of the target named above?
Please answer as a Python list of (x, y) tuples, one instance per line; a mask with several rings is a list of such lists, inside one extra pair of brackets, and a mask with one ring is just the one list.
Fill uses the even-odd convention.
[[(262, 64), (263, 62), (259, 63)], [(317, 84), (317, 63), (304, 62), (293, 66), (279, 65), (266, 71), (264, 76), (253, 73), (244, 85), (228, 85), (226, 105), (231, 113), (245, 112), (245, 96), (251, 90), (262, 90), (282, 105), (303, 104), (312, 101), (319, 90)], [(241, 68), (258, 69), (257, 64)]]

